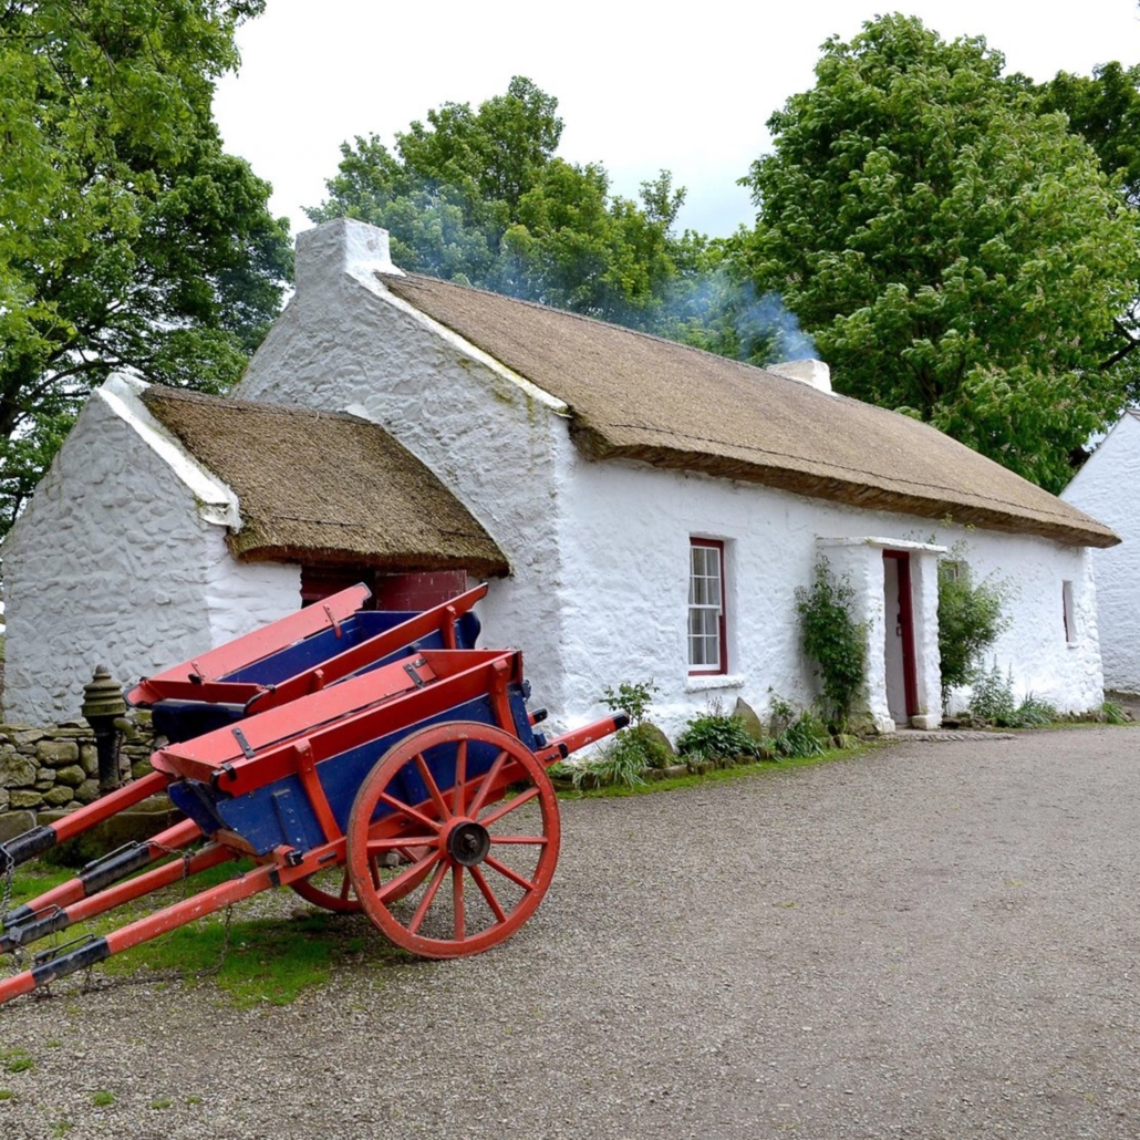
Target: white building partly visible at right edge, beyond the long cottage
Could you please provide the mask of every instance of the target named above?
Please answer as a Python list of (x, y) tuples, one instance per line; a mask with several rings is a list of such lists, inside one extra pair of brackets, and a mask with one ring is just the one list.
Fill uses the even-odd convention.
[(1140, 418), (1125, 413), (1061, 498), (1107, 523), (1123, 542), (1094, 551), (1100, 652), (1109, 689), (1140, 693)]

